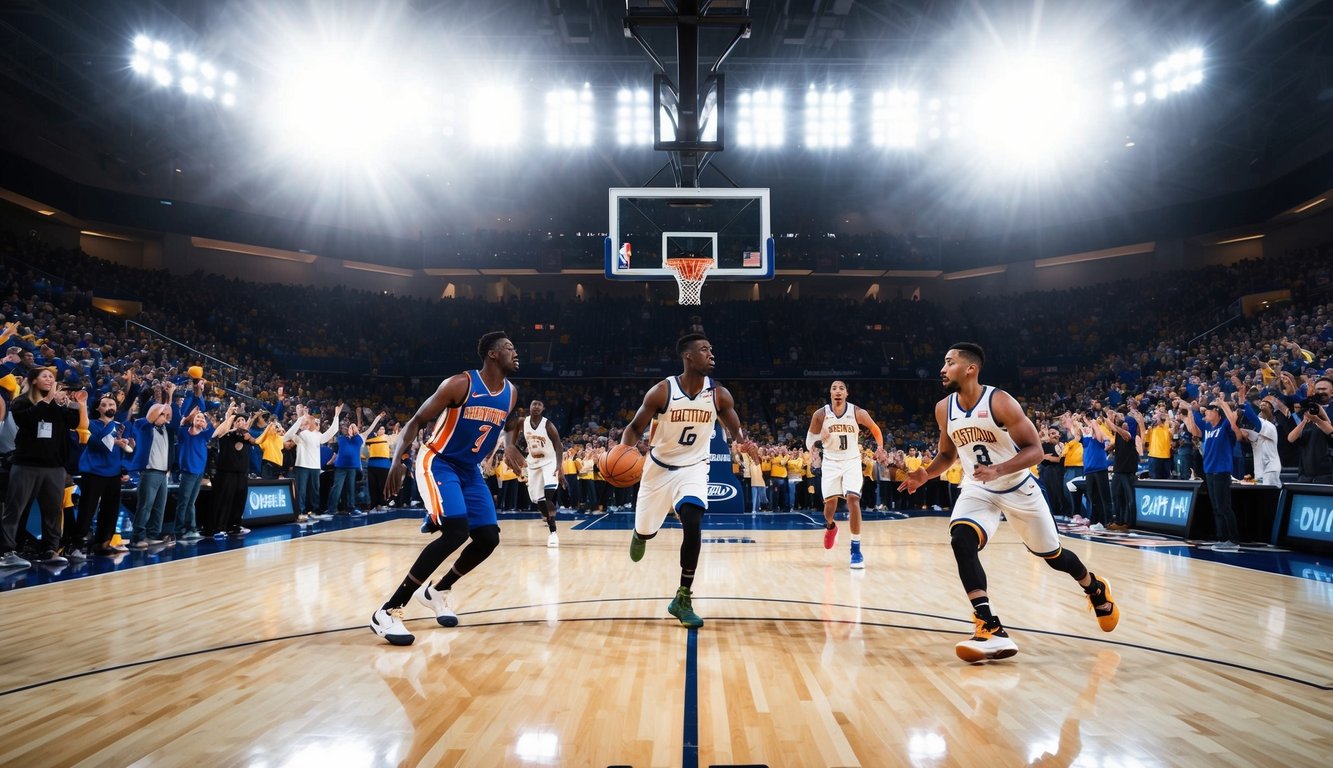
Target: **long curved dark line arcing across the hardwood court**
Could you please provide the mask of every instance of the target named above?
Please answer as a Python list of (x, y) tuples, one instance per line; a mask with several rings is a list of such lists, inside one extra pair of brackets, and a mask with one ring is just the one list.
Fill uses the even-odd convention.
[[(503, 612), (503, 611), (525, 611), (525, 609), (532, 609), (532, 608), (551, 608), (551, 607), (555, 607), (555, 605), (580, 605), (580, 604), (587, 604), (587, 603), (636, 603), (636, 601), (647, 601), (647, 600), (661, 601), (661, 600), (668, 600), (668, 599), (669, 597), (655, 596), (655, 597), (601, 597), (601, 599), (588, 599), (588, 600), (563, 600), (563, 601), (557, 601), (557, 603), (535, 603), (535, 604), (529, 604), (529, 605), (516, 605), (516, 607), (503, 607), (503, 608), (483, 608), (480, 611), (460, 612), (459, 616), (460, 617), (463, 617), (463, 616), (480, 616), (483, 613), (496, 613), (496, 612)], [(958, 624), (968, 624), (968, 623), (970, 623), (970, 619), (954, 619), (952, 616), (941, 616), (938, 613), (925, 613), (925, 612), (920, 612), (920, 611), (904, 611), (904, 609), (898, 609), (898, 608), (874, 608), (874, 607), (866, 607), (866, 605), (850, 605), (850, 604), (846, 604), (846, 603), (816, 603), (813, 600), (789, 600), (789, 599), (781, 599), (781, 597), (704, 597), (704, 600), (740, 600), (740, 601), (753, 601), (753, 603), (780, 603), (780, 604), (785, 603), (785, 604), (793, 604), (793, 605), (821, 605), (821, 607), (822, 605), (828, 605), (828, 607), (833, 607), (833, 608), (858, 608), (861, 611), (876, 611), (876, 612), (881, 612), (881, 613), (901, 613), (901, 615), (906, 615), (906, 616), (918, 616), (918, 617), (928, 617), (928, 619), (938, 619), (938, 620), (942, 620), (942, 621), (953, 621), (953, 623), (958, 623)], [(431, 616), (423, 616), (420, 619), (407, 619), (407, 620), (404, 620), (404, 624), (407, 624), (407, 623), (415, 623), (415, 621), (435, 621), (435, 619), (432, 619)], [(666, 621), (666, 620), (661, 619), (661, 617), (645, 617), (645, 616), (585, 616), (585, 617), (556, 619), (556, 621), (557, 623), (561, 623), (561, 621), (653, 621), (653, 623), (663, 623), (663, 621)], [(953, 635), (956, 632), (954, 629), (942, 629), (942, 628), (932, 628), (932, 627), (914, 627), (914, 625), (908, 625), (908, 624), (893, 624), (893, 623), (886, 623), (886, 621), (854, 621), (854, 620), (842, 620), (842, 619), (816, 619), (816, 617), (789, 617), (789, 616), (710, 616), (709, 621), (773, 621), (773, 623), (780, 623), (780, 621), (788, 621), (788, 623), (790, 623), (790, 621), (800, 621), (800, 623), (809, 623), (809, 624), (853, 624), (853, 625), (857, 625), (857, 627), (876, 627), (876, 628), (881, 628), (881, 629), (906, 629), (906, 631), (912, 631), (912, 632), (936, 632), (936, 633), (949, 633), (949, 635)], [(460, 624), (459, 627), (449, 628), (449, 631), (461, 631), (461, 629), (468, 629), (468, 628), (472, 628), (472, 627), (477, 627), (477, 628), (481, 628), (481, 627), (509, 627), (509, 625), (549, 624), (549, 623), (551, 623), (549, 619), (515, 619), (515, 620), (509, 620), (509, 621), (483, 621), (483, 623), (479, 623), (479, 624)], [(279, 635), (279, 636), (275, 636), (275, 637), (261, 637), (259, 640), (245, 640), (243, 643), (228, 643), (225, 645), (213, 645), (211, 648), (197, 648), (195, 651), (185, 651), (185, 652), (181, 652), (181, 653), (171, 653), (171, 655), (167, 655), (167, 656), (157, 656), (155, 659), (140, 659), (137, 661), (125, 661), (125, 663), (121, 663), (121, 664), (113, 664), (111, 667), (101, 667), (101, 668), (97, 668), (97, 669), (85, 669), (83, 672), (75, 672), (72, 675), (65, 675), (65, 676), (61, 676), (61, 677), (52, 677), (49, 680), (39, 680), (36, 683), (29, 683), (27, 685), (20, 685), (17, 688), (9, 688), (9, 689), (5, 689), (5, 691), (0, 691), (0, 699), (4, 699), (5, 696), (13, 695), (13, 693), (23, 693), (25, 691), (32, 691), (32, 689), (36, 689), (36, 688), (43, 688), (43, 687), (47, 687), (47, 685), (55, 685), (55, 684), (59, 684), (59, 683), (67, 683), (67, 681), (71, 681), (71, 680), (80, 680), (83, 677), (91, 677), (93, 675), (103, 675), (103, 673), (107, 673), (107, 672), (119, 672), (119, 671), (123, 671), (123, 669), (133, 669), (136, 667), (148, 667), (151, 664), (160, 664), (160, 663), (164, 663), (164, 661), (176, 661), (179, 659), (188, 659), (191, 656), (203, 656), (205, 653), (216, 653), (216, 652), (221, 652), (221, 651), (235, 651), (237, 648), (249, 648), (252, 645), (264, 645), (264, 644), (268, 644), (268, 643), (283, 643), (283, 641), (288, 641), (288, 640), (300, 640), (303, 637), (317, 637), (317, 636), (321, 636), (321, 635), (336, 635), (336, 633), (341, 633), (341, 632), (353, 632), (353, 631), (365, 631), (365, 629), (367, 629), (367, 625), (364, 625), (364, 624), (357, 624), (355, 627), (335, 627), (335, 628), (329, 628), (329, 629), (315, 629), (315, 631), (311, 631), (311, 632), (297, 632), (295, 635)], [(1045, 636), (1049, 636), (1049, 637), (1064, 637), (1066, 640), (1086, 640), (1089, 643), (1097, 643), (1097, 644), (1101, 644), (1101, 645), (1114, 645), (1114, 647), (1118, 647), (1118, 648), (1133, 648), (1136, 651), (1145, 651), (1148, 653), (1160, 653), (1160, 655), (1164, 655), (1164, 656), (1173, 656), (1173, 657), (1185, 659), (1185, 660), (1189, 660), (1189, 661), (1198, 661), (1201, 664), (1216, 664), (1216, 665), (1220, 665), (1220, 667), (1229, 667), (1232, 669), (1240, 669), (1242, 672), (1250, 672), (1253, 675), (1260, 675), (1262, 677), (1272, 677), (1272, 679), (1276, 679), (1276, 680), (1284, 680), (1286, 683), (1296, 683), (1298, 685), (1305, 685), (1306, 688), (1314, 688), (1316, 691), (1333, 691), (1333, 684), (1322, 684), (1322, 683), (1316, 683), (1313, 680), (1304, 680), (1301, 677), (1293, 677), (1290, 675), (1284, 675), (1281, 672), (1273, 672), (1273, 671), (1269, 671), (1269, 669), (1260, 669), (1257, 667), (1246, 667), (1245, 664), (1240, 664), (1240, 663), (1236, 663), (1236, 661), (1225, 661), (1225, 660), (1221, 660), (1221, 659), (1209, 659), (1206, 656), (1196, 656), (1193, 653), (1186, 653), (1184, 651), (1172, 651), (1172, 649), (1168, 649), (1168, 648), (1154, 648), (1152, 645), (1144, 645), (1144, 644), (1140, 644), (1140, 643), (1125, 643), (1125, 641), (1120, 641), (1120, 640), (1109, 640), (1109, 639), (1105, 639), (1105, 637), (1096, 637), (1096, 636), (1089, 636), (1089, 635), (1074, 635), (1074, 633), (1070, 633), (1070, 632), (1058, 632), (1058, 631), (1054, 631), (1054, 629), (1033, 629), (1033, 628), (1016, 627), (1016, 625), (1010, 625), (1009, 629), (1021, 631), (1021, 632), (1030, 632), (1033, 635), (1045, 635)]]

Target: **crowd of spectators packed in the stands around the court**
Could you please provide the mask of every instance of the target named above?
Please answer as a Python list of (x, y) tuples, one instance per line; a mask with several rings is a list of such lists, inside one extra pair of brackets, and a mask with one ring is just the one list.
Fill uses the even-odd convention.
[[(909, 459), (929, 461), (937, 440), (930, 405), (940, 396), (933, 373), (950, 341), (973, 339), (988, 347), (992, 359), (1005, 361), (988, 368), (988, 381), (1013, 391), (1050, 445), (1061, 447), (1054, 455), (1058, 461), (1050, 463), (1064, 472), (1052, 471), (1050, 477), (1060, 475), (1066, 480), (1070, 471), (1082, 476), (1088, 469), (1082, 464), (1084, 451), (1096, 451), (1085, 444), (1086, 439), (1093, 437), (1104, 449), (1109, 445), (1114, 455), (1117, 435), (1122, 432), (1130, 433), (1121, 440), (1129, 440), (1136, 457), (1165, 461), (1149, 461), (1154, 473), (1208, 475), (1202, 451), (1206, 439), (1189, 428), (1200, 421), (1190, 409), (1201, 413), (1221, 400), (1236, 415), (1233, 429), (1242, 437), (1229, 448), (1236, 477), (1264, 475), (1256, 468), (1256, 449), (1245, 437), (1264, 432), (1261, 423), (1268, 421), (1280, 437), (1281, 467), (1297, 469), (1305, 479), (1329, 481), (1328, 453), (1318, 449), (1325, 432), (1308, 427), (1321, 424), (1320, 379), (1333, 365), (1330, 273), (1326, 259), (1312, 257), (1328, 249), (1321, 245), (1310, 252), (1166, 273), (1152, 280), (976, 297), (958, 309), (902, 297), (884, 301), (810, 297), (717, 303), (706, 308), (705, 320), (674, 305), (629, 299), (557, 301), (547, 295), (505, 301), (427, 301), (347, 288), (265, 285), (204, 273), (181, 276), (132, 269), (5, 235), (0, 239), (4, 260), (0, 311), (8, 324), (0, 339), (5, 352), (0, 391), (7, 403), (28, 397), (47, 407), (59, 397), (68, 401), (61, 408), (84, 408), (77, 427), (83, 440), (72, 452), (75, 457), (87, 455), (93, 443), (103, 445), (109, 435), (103, 432), (96, 440), (89, 436), (96, 432), (89, 425), (99, 420), (96, 413), (105, 397), (105, 408), (112, 411), (109, 420), (123, 431), (132, 427), (128, 437), (124, 432), (109, 435), (111, 445), (129, 437), (137, 440), (127, 441), (125, 448), (133, 441), (140, 444), (133, 459), (123, 457), (124, 468), (139, 473), (129, 480), (140, 487), (144, 469), (157, 469), (145, 464), (157, 457), (141, 448), (152, 443), (144, 429), (172, 431), (168, 471), (175, 477), (181, 471), (179, 445), (188, 443), (177, 439), (183, 420), (189, 421), (184, 425), (187, 431), (204, 433), (215, 445), (229, 435), (245, 441), (243, 433), (257, 444), (265, 432), (276, 431), (287, 437), (285, 455), (281, 441), (268, 452), (255, 448), (253, 465), (247, 467), (253, 472), (245, 475), (260, 475), (272, 465), (269, 473), (296, 476), (303, 463), (297, 461), (295, 447), (303, 432), (320, 437), (320, 444), (332, 444), (327, 447), (329, 456), (343, 445), (347, 461), (347, 441), (359, 437), (376, 413), (384, 413), (383, 425), (373, 424), (371, 431), (383, 427), (381, 437), (384, 431), (392, 435), (428, 393), (425, 384), (387, 376), (381, 369), (421, 360), (463, 369), (473, 364), (472, 340), (485, 331), (509, 329), (527, 348), (549, 349), (551, 360), (575, 365), (616, 361), (669, 372), (677, 365), (670, 352), (674, 337), (706, 325), (717, 339), (720, 373), (728, 372), (724, 379), (736, 395), (742, 423), (764, 452), (760, 472), (768, 493), (757, 508), (817, 505), (809, 483), (774, 481), (773, 457), (785, 452), (796, 459), (802, 473), (810, 473), (817, 463), (816, 457), (801, 453), (809, 415), (826, 400), (828, 381), (836, 377), (822, 369), (862, 372), (864, 379), (849, 381), (850, 399), (876, 416), (885, 441), (894, 449), (889, 465), (866, 468), (866, 488), (877, 495), (874, 500), (938, 505), (948, 501), (948, 483), (918, 499), (902, 500), (892, 492), (893, 479)], [(1277, 301), (1249, 317), (1229, 312), (1238, 293), (1262, 289), (1286, 289), (1290, 300)], [(141, 303), (143, 312), (136, 324), (127, 324), (95, 309), (95, 296), (132, 299)], [(395, 344), (384, 344), (384, 339), (393, 339)], [(336, 364), (312, 373), (288, 368), (284, 361), (292, 359), (361, 359), (369, 367), (360, 376), (339, 373)], [(201, 369), (191, 371), (192, 365)], [(1056, 373), (1049, 377), (1020, 373), (1026, 365), (1046, 367)], [(40, 384), (32, 376), (45, 369), (51, 371), (53, 387), (31, 397)], [(769, 369), (813, 373), (806, 373), (808, 379), (776, 379), (764, 375)], [(912, 375), (894, 380), (876, 377), (885, 371)], [(732, 372), (738, 376), (732, 379)], [(547, 403), (548, 416), (576, 451), (580, 467), (576, 476), (584, 473), (587, 456), (593, 456), (595, 464), (596, 451), (619, 439), (619, 425), (633, 415), (648, 383), (587, 377), (519, 381), (525, 399)], [(1328, 385), (1333, 387), (1333, 381)], [(76, 393), (79, 399), (73, 397)], [(233, 401), (236, 409), (229, 412)], [(341, 404), (349, 411), (339, 424), (336, 407)], [(1081, 420), (1066, 419), (1066, 413), (1081, 415)], [(165, 423), (159, 424), (163, 419)], [(1165, 429), (1169, 440), (1158, 439), (1150, 452), (1149, 433), (1154, 429)], [(1076, 443), (1081, 448), (1078, 463), (1073, 463)], [(0, 439), (0, 451), (12, 449)], [(1162, 451), (1166, 456), (1154, 455)], [(109, 465), (97, 465), (107, 472), (99, 475), (71, 456), (64, 459), (72, 475), (117, 476)], [(316, 461), (305, 468), (319, 471), (327, 464)], [(752, 480), (746, 461), (737, 457), (736, 463), (742, 479)], [(188, 473), (203, 476), (205, 469), (197, 469)], [(215, 459), (207, 472), (219, 469)], [(343, 469), (340, 487), (349, 483), (348, 467)], [(503, 469), (496, 469), (496, 475), (503, 475)], [(499, 491), (503, 481), (497, 479), (496, 485)], [(792, 492), (784, 493), (780, 485), (790, 487)], [(628, 503), (624, 493), (581, 483), (579, 488), (577, 500), (567, 499), (576, 508), (605, 509)], [(1092, 496), (1096, 503), (1090, 509), (1092, 524), (1132, 523), (1132, 513), (1124, 509), (1126, 503), (1132, 504), (1132, 495), (1120, 507), (1104, 500), (1100, 492)], [(1112, 493), (1108, 491), (1106, 496)], [(1125, 499), (1120, 489), (1114, 496)], [(355, 512), (356, 504), (347, 503), (341, 492), (335, 496), (333, 509), (324, 507), (325, 497), (320, 495), (315, 503), (303, 499), (299, 511)], [(754, 507), (754, 493), (746, 497)], [(411, 500), (408, 495), (395, 501)], [(1073, 509), (1072, 499), (1065, 495), (1057, 508), (1070, 517), (1081, 512)], [(169, 543), (173, 533), (157, 523), (159, 512), (149, 512), (143, 520), (139, 520), (143, 515), (136, 515), (132, 545)], [(45, 507), (43, 513), (45, 517)], [(7, 511), (7, 531), (11, 517)], [(191, 524), (180, 533), (236, 533), (240, 525), (231, 517), (209, 519), (201, 529)], [(65, 531), (83, 531), (87, 537), (92, 535), (91, 521), (76, 520)], [(43, 549), (36, 555), (60, 556), (61, 549), (103, 553), (112, 545), (103, 536), (99, 519), (93, 540), (79, 541), (79, 536), (67, 535), (57, 543), (44, 536)], [(7, 539), (0, 549), (15, 545)]]

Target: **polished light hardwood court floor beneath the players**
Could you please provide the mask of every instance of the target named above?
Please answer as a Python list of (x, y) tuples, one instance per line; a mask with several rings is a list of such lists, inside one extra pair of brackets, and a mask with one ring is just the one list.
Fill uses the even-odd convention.
[[(0, 593), (0, 765), (1328, 765), (1333, 585), (1065, 539), (1112, 580), (1097, 628), (1006, 528), (982, 553), (1020, 653), (968, 665), (946, 521), (678, 531), (507, 521), (463, 625), (371, 612), (424, 543), (393, 520)], [(845, 535), (845, 533), (844, 533)]]

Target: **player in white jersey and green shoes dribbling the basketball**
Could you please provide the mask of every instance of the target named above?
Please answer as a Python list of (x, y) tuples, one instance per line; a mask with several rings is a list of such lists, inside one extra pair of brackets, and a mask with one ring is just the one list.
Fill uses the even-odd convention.
[(704, 620), (694, 613), (692, 589), (708, 509), (709, 443), (717, 421), (722, 423), (729, 443), (740, 440), (741, 421), (732, 393), (709, 376), (713, 345), (708, 339), (686, 333), (676, 341), (676, 353), (684, 363), (680, 376), (659, 381), (644, 395), (644, 404), (620, 437), (621, 445), (637, 445), (648, 424), (653, 425), (639, 480), (629, 559), (637, 563), (644, 557), (647, 541), (674, 509), (685, 535), (680, 545), (680, 588), (666, 612), (684, 627), (702, 627)]

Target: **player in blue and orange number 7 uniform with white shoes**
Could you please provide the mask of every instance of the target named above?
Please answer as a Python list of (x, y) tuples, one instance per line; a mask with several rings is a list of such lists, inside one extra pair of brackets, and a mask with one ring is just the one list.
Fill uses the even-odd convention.
[[(407, 464), (401, 459), (417, 432), (435, 423), (417, 451), (415, 471), (427, 508), (423, 531), (441, 531), (441, 536), (425, 545), (393, 596), (371, 617), (371, 631), (393, 645), (411, 645), (415, 640), (403, 625), (403, 607), (413, 593), (435, 611), (440, 625), (457, 627), (459, 617), (449, 607), (449, 589), (500, 544), (496, 507), (481, 477), (481, 461), (495, 452), (501, 431), (511, 432), (505, 440), (505, 461), (519, 472), (524, 469), (515, 435), (520, 420), (511, 419), (519, 395), (509, 376), (519, 371), (519, 353), (503, 331), (495, 331), (477, 341), (477, 355), (481, 368), (445, 379), (403, 427), (395, 443), (395, 463), (384, 484), (387, 499), (397, 496), (403, 487)], [(432, 587), (431, 575), (465, 541), (468, 545), (449, 572)]]

